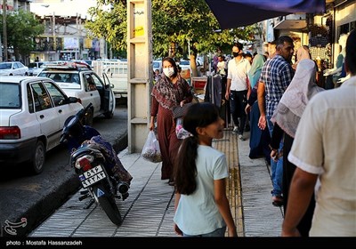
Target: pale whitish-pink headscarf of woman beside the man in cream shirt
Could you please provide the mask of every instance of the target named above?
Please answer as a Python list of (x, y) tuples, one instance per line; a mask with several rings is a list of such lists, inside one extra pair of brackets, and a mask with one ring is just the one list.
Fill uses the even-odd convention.
[(301, 60), (296, 67), (295, 76), (271, 117), (273, 124), (277, 122), (279, 127), (293, 138), (306, 104), (314, 94), (324, 90), (315, 83), (315, 75), (315, 62), (310, 59)]

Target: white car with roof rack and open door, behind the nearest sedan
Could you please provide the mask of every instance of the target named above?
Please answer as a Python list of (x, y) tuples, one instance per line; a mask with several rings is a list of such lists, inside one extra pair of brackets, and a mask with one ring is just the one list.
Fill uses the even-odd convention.
[(77, 97), (86, 107), (90, 102), (93, 108), (85, 115), (85, 124), (92, 125), (93, 117), (114, 116), (116, 100), (109, 78), (103, 74), (104, 81), (88, 68), (86, 64), (63, 62), (58, 65), (45, 65), (38, 76), (53, 79), (68, 96)]

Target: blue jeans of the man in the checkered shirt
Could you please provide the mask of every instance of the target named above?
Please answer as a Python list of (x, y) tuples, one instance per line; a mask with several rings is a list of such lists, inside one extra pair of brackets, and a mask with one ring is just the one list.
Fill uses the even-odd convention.
[[(273, 132), (273, 123), (271, 122), (271, 116), (266, 116), (267, 126), (270, 131), (271, 137)], [(279, 143), (279, 151), (283, 149), (283, 140)], [(283, 157), (279, 157), (278, 161), (275, 162), (271, 158), (271, 180), (273, 185), (273, 190), (271, 191), (272, 197), (282, 196), (282, 179), (283, 179)]]

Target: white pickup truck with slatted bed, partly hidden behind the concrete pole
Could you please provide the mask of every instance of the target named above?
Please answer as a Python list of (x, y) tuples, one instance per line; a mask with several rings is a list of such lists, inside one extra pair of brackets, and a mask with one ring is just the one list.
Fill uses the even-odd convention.
[(127, 61), (123, 60), (93, 60), (93, 71), (102, 76), (105, 73), (109, 77), (115, 98), (127, 97)]

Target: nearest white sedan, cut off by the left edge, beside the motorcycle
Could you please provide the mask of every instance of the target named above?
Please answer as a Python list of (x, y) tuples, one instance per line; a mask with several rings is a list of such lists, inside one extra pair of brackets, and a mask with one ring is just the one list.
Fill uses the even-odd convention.
[(45, 152), (60, 144), (65, 120), (83, 106), (45, 77), (0, 76), (0, 92), (0, 165), (28, 161), (42, 173)]

